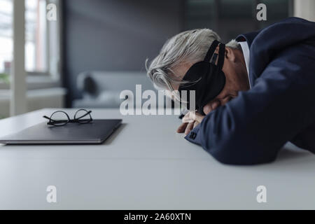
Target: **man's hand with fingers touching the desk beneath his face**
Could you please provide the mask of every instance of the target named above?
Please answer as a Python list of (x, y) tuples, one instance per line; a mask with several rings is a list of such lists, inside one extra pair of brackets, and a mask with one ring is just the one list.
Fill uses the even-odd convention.
[(185, 134), (188, 134), (191, 130), (193, 130), (193, 128), (195, 128), (202, 122), (202, 119), (204, 119), (204, 117), (205, 116), (202, 116), (200, 113), (193, 111), (186, 113), (186, 115), (182, 119), (183, 123), (177, 129), (177, 132), (185, 132)]

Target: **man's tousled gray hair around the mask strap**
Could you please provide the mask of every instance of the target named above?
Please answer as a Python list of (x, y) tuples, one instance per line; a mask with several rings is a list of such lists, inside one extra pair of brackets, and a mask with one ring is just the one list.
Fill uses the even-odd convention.
[[(185, 62), (202, 61), (214, 40), (221, 41), (221, 38), (211, 29), (183, 31), (167, 40), (150, 66), (147, 66), (148, 59), (146, 59), (146, 71), (155, 88), (174, 91), (171, 83), (186, 83), (174, 76), (173, 69)], [(226, 46), (239, 48), (239, 43), (232, 40)]]

